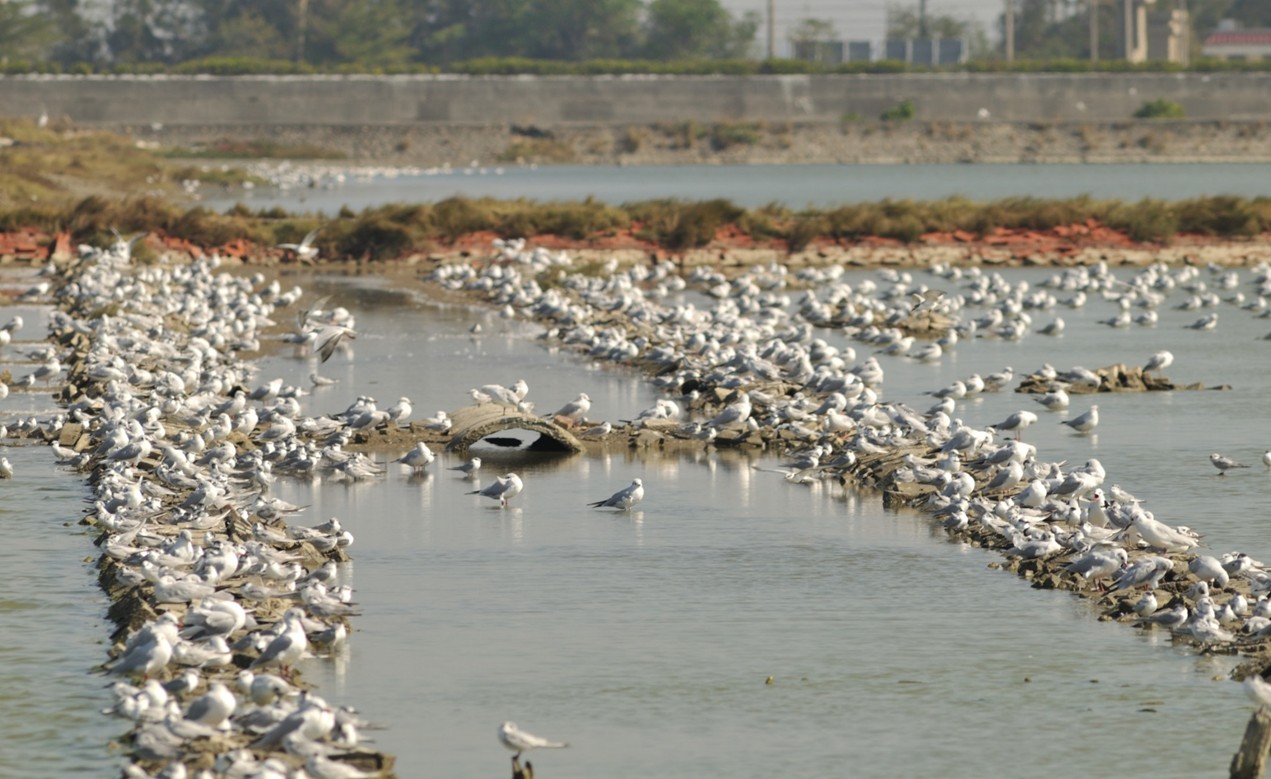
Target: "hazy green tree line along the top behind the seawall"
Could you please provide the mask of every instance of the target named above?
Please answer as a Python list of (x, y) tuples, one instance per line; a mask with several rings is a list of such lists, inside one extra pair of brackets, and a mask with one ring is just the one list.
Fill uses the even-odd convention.
[[(941, 0), (890, 8), (887, 36), (939, 36), (999, 56), (998, 29), (938, 13)], [(1089, 58), (1089, 14), (1101, 50), (1116, 50), (1121, 0), (1016, 0), (1023, 60)], [(1271, 27), (1267, 0), (1188, 0), (1193, 39), (1220, 19)], [(745, 61), (764, 51), (763, 19), (719, 0), (0, 0), (0, 65), (44, 62), (105, 70), (244, 60), (365, 71), (449, 70), (482, 60)], [(792, 41), (844, 39), (852, 30), (803, 19)], [(1104, 55), (1107, 56), (1107, 55)]]

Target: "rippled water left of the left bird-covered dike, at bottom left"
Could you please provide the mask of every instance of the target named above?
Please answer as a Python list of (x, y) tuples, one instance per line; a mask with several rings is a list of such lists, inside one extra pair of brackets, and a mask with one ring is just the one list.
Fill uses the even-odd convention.
[(111, 625), (97, 587), (93, 536), (75, 525), (88, 489), (36, 447), (0, 447), (14, 478), (0, 482), (4, 592), (0, 595), (0, 775), (118, 773), (107, 742), (118, 722), (105, 660)]

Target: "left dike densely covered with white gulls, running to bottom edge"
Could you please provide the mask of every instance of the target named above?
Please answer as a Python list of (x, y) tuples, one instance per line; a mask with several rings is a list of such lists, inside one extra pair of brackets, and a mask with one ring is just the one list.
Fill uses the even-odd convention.
[(296, 668), (347, 640), (352, 535), (289, 525), (297, 508), (269, 496), (276, 474), (350, 473), (360, 455), (325, 445), (336, 423), (301, 417), (295, 388), (250, 389), (236, 357), (299, 290), (217, 264), (140, 267), (119, 243), (56, 271), (67, 422), (52, 446), (93, 488), (125, 775), (388, 775), (365, 723)]

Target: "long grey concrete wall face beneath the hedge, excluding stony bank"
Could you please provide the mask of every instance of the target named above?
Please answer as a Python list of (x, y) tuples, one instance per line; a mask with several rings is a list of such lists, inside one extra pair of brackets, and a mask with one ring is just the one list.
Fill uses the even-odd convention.
[(90, 126), (649, 125), (873, 119), (1127, 119), (1146, 100), (1193, 119), (1271, 119), (1271, 74), (817, 76), (0, 76), (0, 116)]

